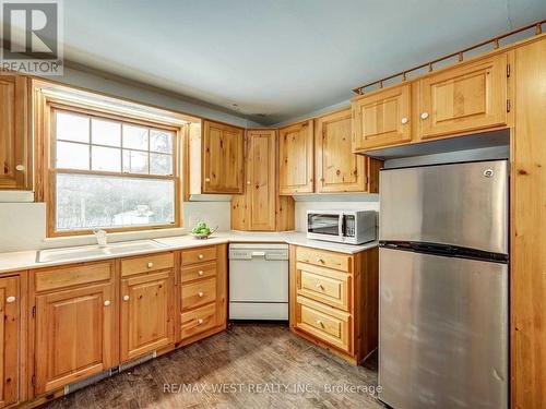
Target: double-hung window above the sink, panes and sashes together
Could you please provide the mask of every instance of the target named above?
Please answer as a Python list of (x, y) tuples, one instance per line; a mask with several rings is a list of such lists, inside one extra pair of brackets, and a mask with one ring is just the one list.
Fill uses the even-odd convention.
[(179, 129), (51, 107), (49, 233), (175, 227)]

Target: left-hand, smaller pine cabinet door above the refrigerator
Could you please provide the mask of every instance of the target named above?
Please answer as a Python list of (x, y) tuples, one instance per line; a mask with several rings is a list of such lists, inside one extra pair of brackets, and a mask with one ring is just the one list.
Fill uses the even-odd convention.
[(411, 84), (355, 98), (353, 151), (399, 145), (412, 140)]

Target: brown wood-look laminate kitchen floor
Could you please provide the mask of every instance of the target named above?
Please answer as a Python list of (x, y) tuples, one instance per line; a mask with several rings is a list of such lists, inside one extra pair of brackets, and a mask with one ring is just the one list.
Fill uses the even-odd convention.
[(369, 361), (354, 366), (283, 325), (233, 324), (40, 408), (382, 408)]

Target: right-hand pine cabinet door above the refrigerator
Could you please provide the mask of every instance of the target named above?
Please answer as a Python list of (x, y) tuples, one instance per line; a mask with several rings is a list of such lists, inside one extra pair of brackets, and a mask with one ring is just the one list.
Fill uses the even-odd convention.
[(507, 55), (501, 53), (420, 80), (420, 139), (505, 125), (507, 65)]

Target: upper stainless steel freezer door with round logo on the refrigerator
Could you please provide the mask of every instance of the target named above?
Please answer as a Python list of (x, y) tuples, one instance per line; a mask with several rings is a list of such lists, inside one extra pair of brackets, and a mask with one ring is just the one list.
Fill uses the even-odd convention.
[(385, 169), (379, 240), (508, 253), (508, 161)]

